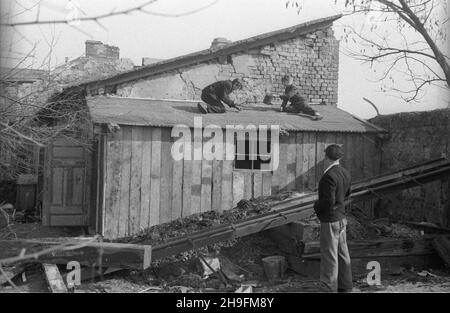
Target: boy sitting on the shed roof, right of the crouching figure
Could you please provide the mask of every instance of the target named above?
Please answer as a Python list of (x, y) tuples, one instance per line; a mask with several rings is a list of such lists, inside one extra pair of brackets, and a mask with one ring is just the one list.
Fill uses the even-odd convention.
[[(305, 98), (301, 96), (298, 88), (294, 86), (293, 78), (291, 76), (283, 76), (281, 83), (285, 87), (285, 90), (284, 95), (280, 96), (281, 100), (283, 100), (280, 111), (310, 115), (315, 120), (320, 120), (323, 118), (317, 111), (305, 103)], [(290, 105), (287, 106), (289, 101)]]

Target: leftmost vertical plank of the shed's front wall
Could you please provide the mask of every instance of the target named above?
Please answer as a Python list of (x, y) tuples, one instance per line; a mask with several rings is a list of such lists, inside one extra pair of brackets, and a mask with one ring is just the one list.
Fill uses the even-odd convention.
[[(104, 202), (104, 227), (103, 235), (106, 238), (114, 238), (119, 235), (120, 195), (122, 177), (122, 130), (109, 134), (105, 138), (106, 151), (103, 162), (106, 163), (105, 177), (105, 202)], [(99, 179), (102, 179), (100, 177)]]

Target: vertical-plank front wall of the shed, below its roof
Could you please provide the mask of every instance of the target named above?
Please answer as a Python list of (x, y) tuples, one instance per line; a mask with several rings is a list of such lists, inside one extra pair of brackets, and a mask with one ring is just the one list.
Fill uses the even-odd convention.
[[(203, 138), (198, 148), (203, 149), (208, 139)], [(299, 132), (281, 136), (279, 167), (274, 172), (235, 170), (229, 160), (175, 161), (170, 154), (175, 140), (170, 128), (121, 126), (108, 135), (106, 237), (129, 236), (190, 214), (228, 210), (241, 199), (314, 190), (324, 170), (324, 149), (331, 143), (344, 145), (342, 164), (353, 180), (379, 174), (381, 153), (373, 135)]]

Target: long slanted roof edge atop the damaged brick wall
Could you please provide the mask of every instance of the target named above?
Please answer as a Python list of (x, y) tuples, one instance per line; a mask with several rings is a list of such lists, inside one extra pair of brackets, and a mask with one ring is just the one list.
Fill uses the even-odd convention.
[(180, 57), (163, 60), (142, 66), (134, 70), (124, 71), (116, 75), (112, 75), (103, 79), (94, 79), (86, 81), (82, 84), (76, 84), (73, 87), (86, 87), (98, 88), (101, 86), (115, 85), (125, 83), (131, 80), (141, 79), (144, 77), (157, 75), (163, 72), (176, 70), (185, 66), (198, 64), (201, 62), (209, 61), (219, 56), (226, 56), (233, 53), (246, 51), (248, 49), (261, 47), (278, 41), (289, 40), (298, 36), (312, 33), (318, 29), (328, 27), (335, 20), (339, 19), (342, 14), (333, 15), (325, 18), (315, 19), (307, 21), (292, 27), (276, 30), (269, 33), (264, 33), (258, 36), (250, 37), (247, 39), (231, 42), (225, 46), (217, 49), (205, 49), (191, 54), (183, 55)]

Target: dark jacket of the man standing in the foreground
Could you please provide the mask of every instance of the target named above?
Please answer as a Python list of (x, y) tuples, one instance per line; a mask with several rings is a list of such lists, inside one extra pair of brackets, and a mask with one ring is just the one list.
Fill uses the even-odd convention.
[(340, 165), (330, 168), (319, 182), (319, 200), (314, 211), (323, 223), (337, 222), (345, 217), (344, 200), (350, 195), (350, 173)]

